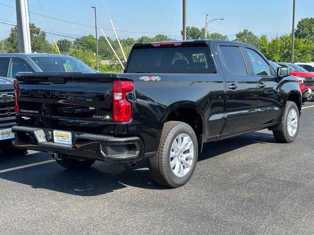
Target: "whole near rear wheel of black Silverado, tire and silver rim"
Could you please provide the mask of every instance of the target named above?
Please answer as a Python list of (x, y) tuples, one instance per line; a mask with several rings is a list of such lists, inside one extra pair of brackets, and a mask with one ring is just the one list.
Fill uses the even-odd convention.
[(166, 122), (162, 129), (158, 153), (149, 159), (154, 181), (162, 186), (178, 188), (191, 178), (198, 157), (198, 145), (191, 126), (180, 121)]

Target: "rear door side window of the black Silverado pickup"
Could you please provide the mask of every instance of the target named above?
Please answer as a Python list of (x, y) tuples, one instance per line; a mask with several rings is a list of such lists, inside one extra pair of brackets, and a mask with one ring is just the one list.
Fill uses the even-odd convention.
[(225, 68), (228, 72), (238, 75), (247, 75), (244, 58), (239, 47), (219, 46)]

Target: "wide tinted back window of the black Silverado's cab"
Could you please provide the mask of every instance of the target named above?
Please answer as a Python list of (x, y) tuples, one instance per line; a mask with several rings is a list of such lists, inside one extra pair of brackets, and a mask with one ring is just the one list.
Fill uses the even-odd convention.
[(216, 73), (209, 47), (134, 48), (126, 72)]

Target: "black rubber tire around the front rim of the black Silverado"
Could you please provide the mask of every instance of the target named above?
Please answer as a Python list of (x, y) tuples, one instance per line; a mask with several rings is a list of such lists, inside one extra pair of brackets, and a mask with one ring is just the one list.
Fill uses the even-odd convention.
[[(287, 123), (288, 123), (288, 115), (289, 112), (294, 109), (296, 111), (297, 114), (297, 118), (298, 118), (298, 122), (297, 122), (297, 129), (296, 132), (293, 136), (290, 136), (288, 133), (288, 127), (287, 127)], [(298, 131), (299, 131), (299, 126), (300, 126), (300, 113), (299, 113), (299, 109), (296, 106), (296, 104), (292, 101), (287, 101), (287, 104), (284, 108), (284, 113), (283, 113), (283, 120), (282, 120), (282, 124), (281, 124), (281, 130), (280, 131), (273, 131), (274, 137), (276, 139), (277, 142), (280, 143), (290, 143), (292, 141), (295, 140), (295, 138), (298, 135)]]

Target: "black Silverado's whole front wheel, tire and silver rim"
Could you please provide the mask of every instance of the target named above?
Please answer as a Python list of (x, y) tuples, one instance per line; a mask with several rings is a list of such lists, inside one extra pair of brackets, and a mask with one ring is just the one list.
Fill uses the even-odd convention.
[(280, 143), (290, 143), (294, 141), (298, 135), (299, 125), (299, 109), (294, 102), (287, 101), (284, 109), (281, 130), (273, 131), (276, 141)]

